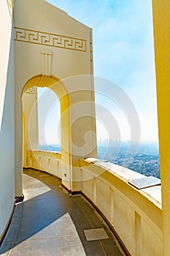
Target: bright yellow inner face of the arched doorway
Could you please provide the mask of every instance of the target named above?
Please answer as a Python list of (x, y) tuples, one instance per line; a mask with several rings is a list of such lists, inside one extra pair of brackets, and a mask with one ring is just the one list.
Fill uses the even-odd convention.
[[(71, 179), (71, 166), (72, 166), (72, 154), (71, 154), (71, 132), (70, 132), (70, 99), (69, 94), (66, 91), (66, 87), (58, 78), (54, 76), (45, 76), (45, 75), (36, 75), (33, 78), (29, 79), (26, 84), (23, 86), (23, 91), (21, 97), (25, 92), (30, 91), (36, 87), (47, 87), (47, 89), (51, 89), (57, 95), (60, 106), (61, 106), (61, 170), (69, 170), (69, 177), (67, 180), (64, 179), (63, 184), (66, 187), (70, 187), (70, 179)], [(27, 103), (28, 104), (28, 103)], [(22, 104), (23, 109), (23, 104)], [(26, 161), (26, 124), (27, 120), (23, 114), (23, 160)], [(35, 130), (36, 133), (36, 130)], [(37, 133), (38, 135), (38, 133)], [(36, 140), (36, 135), (34, 135)], [(36, 145), (36, 143), (34, 143)], [(34, 147), (30, 150), (35, 149)], [(38, 149), (38, 148), (36, 148)], [(27, 161), (26, 161), (27, 162)], [(29, 167), (27, 162), (26, 167)]]

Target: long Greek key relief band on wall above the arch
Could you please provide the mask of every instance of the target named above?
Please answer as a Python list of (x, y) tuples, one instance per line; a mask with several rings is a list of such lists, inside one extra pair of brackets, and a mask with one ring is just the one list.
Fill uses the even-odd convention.
[(15, 41), (86, 52), (86, 40), (15, 27)]

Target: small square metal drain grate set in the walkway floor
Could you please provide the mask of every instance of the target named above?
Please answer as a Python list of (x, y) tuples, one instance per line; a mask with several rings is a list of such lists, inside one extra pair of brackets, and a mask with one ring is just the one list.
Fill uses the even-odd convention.
[(93, 240), (101, 240), (101, 239), (107, 239), (109, 236), (107, 236), (107, 233), (105, 232), (104, 228), (94, 228), (90, 230), (84, 230), (85, 237), (87, 241), (93, 241)]

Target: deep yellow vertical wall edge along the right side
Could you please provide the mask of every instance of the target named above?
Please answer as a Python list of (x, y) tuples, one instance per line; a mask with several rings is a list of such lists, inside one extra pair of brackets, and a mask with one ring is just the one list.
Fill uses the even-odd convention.
[(170, 253), (170, 2), (152, 0), (163, 201), (163, 255)]

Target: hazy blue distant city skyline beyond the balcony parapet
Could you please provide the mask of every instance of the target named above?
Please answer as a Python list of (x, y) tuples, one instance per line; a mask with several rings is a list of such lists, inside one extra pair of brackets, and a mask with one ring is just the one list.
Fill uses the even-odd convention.
[[(131, 152), (128, 153), (129, 144), (130, 141), (121, 142), (117, 151), (118, 142), (115, 141), (108, 147), (106, 140), (98, 141), (98, 159), (107, 160), (115, 165), (127, 167), (144, 176), (161, 178), (158, 143), (141, 142), (135, 154)], [(60, 145), (41, 145), (39, 148), (41, 150), (61, 152)]]

